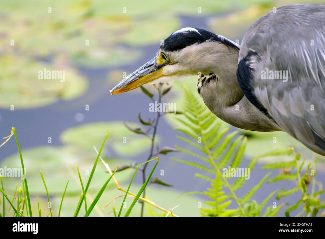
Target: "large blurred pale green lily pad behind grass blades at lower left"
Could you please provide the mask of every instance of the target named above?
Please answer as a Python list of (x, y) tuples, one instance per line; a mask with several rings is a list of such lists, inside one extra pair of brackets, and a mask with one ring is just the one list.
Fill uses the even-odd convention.
[[(28, 189), (32, 195), (45, 196), (45, 188), (40, 176), (40, 170), (43, 173), (48, 192), (51, 196), (60, 196), (63, 193), (65, 185), (69, 180), (67, 195), (80, 195), (81, 186), (77, 173), (76, 163), (78, 163), (80, 173), (84, 184), (86, 184), (92, 167), (95, 163), (97, 153), (87, 153), (87, 151), (76, 147), (38, 147), (22, 151)], [(104, 156), (104, 155), (103, 155)], [(131, 161), (104, 158), (112, 170), (116, 166), (123, 166), (132, 163)], [(15, 153), (1, 162), (2, 167), (20, 168), (19, 154)], [(124, 170), (118, 172), (120, 181), (128, 179), (132, 172)], [(90, 184), (89, 192), (98, 192), (105, 180), (109, 178), (109, 173), (105, 166), (100, 162)], [(4, 177), (4, 185), (7, 192), (15, 189), (16, 183), (21, 184), (20, 177)], [(115, 187), (113, 182), (108, 187)]]

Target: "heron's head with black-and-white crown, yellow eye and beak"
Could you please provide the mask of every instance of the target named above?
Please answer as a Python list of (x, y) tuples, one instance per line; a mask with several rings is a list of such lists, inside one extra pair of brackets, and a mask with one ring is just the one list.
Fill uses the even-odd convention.
[(128, 75), (110, 93), (120, 94), (146, 83), (155, 84), (171, 80), (181, 80), (191, 75), (213, 72), (220, 47), (239, 46), (217, 34), (197, 28), (182, 28), (167, 37), (157, 55)]

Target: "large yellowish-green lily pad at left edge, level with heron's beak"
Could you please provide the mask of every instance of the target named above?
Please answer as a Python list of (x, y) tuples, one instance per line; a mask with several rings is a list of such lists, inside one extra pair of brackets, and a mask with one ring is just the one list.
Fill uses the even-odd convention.
[[(41, 107), (57, 100), (71, 100), (82, 95), (87, 89), (87, 80), (64, 64), (53, 66), (14, 55), (1, 56), (0, 64), (1, 108), (9, 109), (11, 105), (14, 105), (15, 109)], [(62, 77), (40, 77), (39, 71), (43, 72), (44, 69), (62, 71)]]

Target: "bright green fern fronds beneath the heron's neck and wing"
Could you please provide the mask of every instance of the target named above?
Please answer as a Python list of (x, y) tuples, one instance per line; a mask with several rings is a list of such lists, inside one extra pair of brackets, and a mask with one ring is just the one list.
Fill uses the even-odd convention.
[[(263, 186), (264, 182), (271, 175), (270, 172), (267, 173), (265, 177), (260, 180), (258, 184), (253, 186), (243, 197), (239, 198), (235, 192), (248, 181), (245, 180), (245, 176), (247, 175), (242, 175), (231, 184), (229, 183), (229, 180), (231, 180), (232, 177), (225, 174), (225, 172), (227, 172), (227, 170), (225, 170), (227, 168), (225, 167), (230, 166), (231, 169), (238, 169), (240, 167), (247, 144), (247, 138), (243, 138), (242, 135), (238, 136), (237, 131), (227, 133), (230, 128), (222, 128), (220, 120), (204, 107), (203, 103), (201, 103), (187, 87), (184, 87), (184, 91), (184, 113), (181, 117), (177, 118), (183, 127), (177, 128), (176, 130), (191, 139), (177, 136), (178, 139), (188, 143), (191, 150), (179, 146), (176, 146), (176, 148), (181, 152), (196, 158), (196, 161), (200, 160), (202, 164), (190, 160), (171, 159), (198, 168), (214, 177), (205, 176), (201, 173), (195, 174), (196, 177), (211, 182), (212, 188), (208, 188), (206, 192), (186, 193), (204, 194), (213, 200), (205, 202), (207, 205), (211, 206), (212, 209), (201, 209), (201, 214), (203, 216), (261, 216), (263, 207), (267, 205), (269, 199), (271, 199), (273, 195), (278, 193), (276, 198), (280, 199), (289, 196), (300, 189), (302, 192), (301, 199), (295, 205), (288, 207), (285, 213), (286, 216), (290, 216), (289, 213), (297, 209), (303, 202), (305, 203), (305, 206), (298, 215), (302, 215), (305, 212), (305, 216), (308, 216), (309, 214), (316, 216), (320, 209), (325, 208), (325, 201), (320, 199), (320, 195), (323, 193), (320, 182), (317, 182), (319, 190), (315, 192), (315, 169), (311, 169), (309, 164), (305, 174), (301, 177), (301, 169), (304, 166), (305, 160), (299, 165), (299, 162), (301, 161), (300, 154), (296, 155), (292, 148), (273, 150), (269, 153), (260, 154), (255, 156), (246, 166), (246, 169), (250, 170), (248, 172), (251, 172), (255, 167), (258, 158), (276, 155), (291, 155), (293, 152), (294, 160), (291, 162), (276, 162), (262, 167), (263, 169), (287, 169), (287, 171), (282, 171), (282, 173), (269, 179), (267, 182), (272, 183), (290, 180), (296, 185), (292, 190), (278, 189), (271, 192), (261, 204), (258, 204), (253, 200), (252, 198), (254, 194)], [(195, 153), (195, 150), (201, 151), (201, 154), (203, 153), (204, 156)], [(290, 169), (290, 171), (288, 171), (288, 169)], [(296, 172), (292, 172), (293, 170), (296, 170)], [(306, 182), (311, 180), (310, 175), (313, 176), (312, 192), (308, 192), (306, 187)], [(225, 192), (221, 191), (223, 186), (229, 190), (229, 195), (224, 195)], [(227, 201), (224, 202), (225, 200)], [(227, 209), (232, 202), (231, 200), (235, 201), (237, 209)], [(272, 206), (266, 208), (263, 216), (277, 216), (279, 210), (285, 205), (286, 203), (282, 203), (281, 205), (276, 206), (276, 204), (273, 203)]]

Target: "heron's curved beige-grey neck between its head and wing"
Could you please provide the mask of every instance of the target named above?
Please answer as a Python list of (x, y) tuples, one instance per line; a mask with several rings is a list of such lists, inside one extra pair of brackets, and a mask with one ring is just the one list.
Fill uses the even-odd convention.
[(201, 87), (206, 106), (220, 119), (238, 128), (255, 131), (280, 131), (279, 126), (259, 111), (243, 94), (237, 81), (238, 50), (218, 52), (214, 74), (218, 81)]

